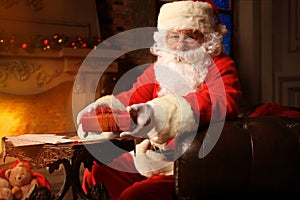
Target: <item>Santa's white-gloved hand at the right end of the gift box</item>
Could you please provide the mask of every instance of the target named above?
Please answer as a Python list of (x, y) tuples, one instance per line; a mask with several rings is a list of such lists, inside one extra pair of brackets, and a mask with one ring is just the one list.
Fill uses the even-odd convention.
[(134, 104), (127, 107), (130, 117), (136, 124), (131, 132), (123, 132), (121, 137), (126, 138), (147, 138), (147, 133), (154, 127), (154, 110), (145, 103)]

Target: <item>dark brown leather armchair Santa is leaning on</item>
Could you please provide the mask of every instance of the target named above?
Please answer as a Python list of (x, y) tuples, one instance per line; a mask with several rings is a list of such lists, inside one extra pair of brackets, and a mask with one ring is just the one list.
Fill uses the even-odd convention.
[(300, 118), (261, 116), (226, 121), (214, 148), (199, 158), (205, 135), (206, 130), (201, 129), (196, 136), (185, 134), (176, 140), (176, 152), (182, 154), (175, 161), (178, 199), (245, 199), (299, 191)]

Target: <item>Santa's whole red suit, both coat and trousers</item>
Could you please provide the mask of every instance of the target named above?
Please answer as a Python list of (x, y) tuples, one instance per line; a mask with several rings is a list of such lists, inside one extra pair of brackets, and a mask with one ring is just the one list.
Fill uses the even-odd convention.
[[(215, 117), (214, 120), (218, 120), (218, 117), (219, 119), (224, 119), (224, 117), (232, 119), (238, 115), (238, 102), (241, 98), (241, 89), (235, 63), (225, 54), (214, 57), (213, 61), (215, 65), (209, 67), (206, 81), (201, 90), (197, 93), (189, 93), (188, 95), (183, 96), (183, 99), (190, 105), (195, 119), (200, 119), (200, 126), (208, 125), (211, 121), (213, 112), (216, 110), (217, 115), (215, 116), (217, 117)], [(137, 78), (137, 82), (133, 84), (132, 89), (115, 96), (115, 98), (123, 104), (120, 106), (120, 104), (117, 103), (116, 105), (119, 107), (130, 106), (160, 99), (158, 98), (159, 90), (160, 85), (156, 81), (154, 64), (152, 64)], [(222, 95), (222, 93), (224, 95)], [(107, 101), (107, 99), (103, 98), (102, 101)], [(126, 162), (124, 162), (124, 160)], [(116, 158), (113, 163), (117, 166), (123, 166), (126, 169), (135, 169), (137, 165), (136, 163), (133, 165), (133, 160), (134, 157), (132, 157), (130, 153), (126, 153), (123, 156)], [(144, 165), (148, 164), (149, 163), (146, 162)], [(131, 171), (131, 169), (128, 169), (128, 171)], [(100, 172), (103, 172), (105, 175)], [(144, 175), (143, 173), (141, 174)], [(118, 197), (120, 197), (120, 199), (124, 197), (134, 199), (131, 195), (134, 197), (138, 196), (140, 194), (138, 191), (145, 192), (145, 188), (147, 188), (147, 195), (151, 197), (151, 199), (172, 198), (174, 185), (173, 176), (154, 175), (146, 179), (146, 177), (141, 176), (141, 174), (126, 173), (111, 169), (105, 165), (95, 164), (92, 172), (85, 170), (83, 189), (87, 192), (88, 188), (92, 185), (104, 183), (112, 199), (117, 199)], [(154, 179), (161, 183), (159, 184), (159, 188), (157, 188), (157, 182), (152, 182)], [(116, 183), (118, 183), (118, 188), (116, 188)], [(140, 189), (140, 187), (144, 189)], [(163, 192), (159, 192), (160, 195), (158, 195), (157, 191)]]

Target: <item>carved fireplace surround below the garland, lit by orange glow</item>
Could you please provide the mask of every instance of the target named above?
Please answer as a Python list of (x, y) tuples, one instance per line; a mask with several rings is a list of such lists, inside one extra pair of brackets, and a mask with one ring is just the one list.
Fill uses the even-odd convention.
[[(101, 95), (89, 90), (101, 74), (93, 72), (93, 67), (81, 73), (83, 83), (74, 86), (77, 71), (90, 51), (62, 49), (47, 54), (23, 51), (6, 54), (0, 60), (0, 134), (1, 137), (24, 133), (74, 132), (72, 94), (81, 98), (81, 109), (87, 103), (86, 97)], [(2, 54), (3, 55), (3, 54)], [(102, 53), (99, 53), (102, 55)], [(109, 59), (104, 54), (101, 60)], [(116, 73), (117, 61), (105, 73)], [(97, 69), (99, 71), (99, 68)], [(94, 81), (94, 82), (93, 82)], [(98, 84), (98, 83), (96, 83)], [(75, 89), (73, 89), (75, 88)], [(103, 88), (99, 88), (101, 90)], [(76, 112), (76, 110), (75, 110)]]

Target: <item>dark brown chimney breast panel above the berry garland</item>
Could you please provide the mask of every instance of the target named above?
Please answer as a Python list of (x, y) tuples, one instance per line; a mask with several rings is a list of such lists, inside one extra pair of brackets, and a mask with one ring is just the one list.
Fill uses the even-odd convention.
[(0, 5), (0, 33), (3, 35), (99, 36), (94, 0), (3, 1)]

